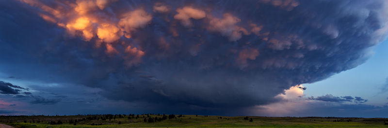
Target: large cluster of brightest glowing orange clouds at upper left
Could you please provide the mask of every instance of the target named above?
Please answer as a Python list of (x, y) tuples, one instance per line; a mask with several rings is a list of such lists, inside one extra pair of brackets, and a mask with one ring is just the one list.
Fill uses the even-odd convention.
[[(92, 41), (97, 37), (96, 47), (104, 46), (108, 55), (124, 54), (128, 66), (137, 65), (141, 62), (144, 52), (136, 47), (127, 47), (125, 51), (115, 48), (117, 45), (128, 46), (127, 43), (115, 43), (124, 35), (130, 38), (130, 33), (138, 28), (144, 28), (152, 20), (152, 15), (144, 9), (129, 11), (121, 19), (115, 15), (105, 14), (102, 11), (116, 0), (75, 0), (75, 1), (52, 1), (57, 3), (51, 8), (47, 3), (39, 0), (20, 0), (40, 9), (39, 15), (50, 23), (55, 23), (67, 30), (71, 36), (81, 36), (85, 41)], [(167, 6), (158, 4), (155, 10), (165, 12)], [(122, 15), (122, 14), (117, 14)], [(123, 52), (123, 53), (120, 53)]]

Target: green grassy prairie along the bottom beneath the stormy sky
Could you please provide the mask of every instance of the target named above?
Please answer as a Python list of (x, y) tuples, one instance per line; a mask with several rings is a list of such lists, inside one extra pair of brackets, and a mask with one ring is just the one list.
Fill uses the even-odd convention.
[[(93, 115), (96, 116), (96, 115)], [(15, 128), (388, 128), (388, 118), (334, 118), (334, 117), (259, 117), (259, 116), (204, 116), (204, 115), (175, 115), (174, 118), (149, 123), (144, 119), (162, 118), (162, 115), (149, 114), (130, 116), (116, 116), (109, 120), (101, 119), (103, 115), (72, 116), (0, 116), (0, 122)], [(89, 118), (88, 118), (89, 117)], [(107, 117), (107, 116), (104, 116)], [(252, 118), (252, 122), (250, 121)], [(72, 122), (77, 120), (76, 125)], [(31, 123), (30, 123), (31, 121)], [(39, 123), (37, 123), (39, 121)], [(52, 124), (61, 121), (63, 124)], [(334, 122), (335, 121), (335, 122)], [(385, 122), (387, 124), (385, 124)], [(51, 125), (50, 125), (51, 123)], [(97, 124), (97, 125), (96, 125)]]

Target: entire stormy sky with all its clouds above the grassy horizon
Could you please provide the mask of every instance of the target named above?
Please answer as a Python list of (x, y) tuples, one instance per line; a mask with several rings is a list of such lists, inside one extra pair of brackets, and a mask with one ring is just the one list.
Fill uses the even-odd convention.
[(388, 117), (386, 0), (0, 0), (0, 115)]

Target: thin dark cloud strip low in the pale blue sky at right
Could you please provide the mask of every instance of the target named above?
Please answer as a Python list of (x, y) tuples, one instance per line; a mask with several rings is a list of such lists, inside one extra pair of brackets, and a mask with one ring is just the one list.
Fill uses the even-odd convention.
[(336, 97), (331, 94), (326, 94), (324, 96), (320, 96), (317, 98), (314, 98), (313, 96), (308, 98), (309, 100), (320, 100), (320, 101), (327, 101), (327, 102), (356, 102), (356, 103), (364, 103), (368, 100), (362, 99), (361, 97), (351, 97), (351, 96), (344, 96), (344, 97)]

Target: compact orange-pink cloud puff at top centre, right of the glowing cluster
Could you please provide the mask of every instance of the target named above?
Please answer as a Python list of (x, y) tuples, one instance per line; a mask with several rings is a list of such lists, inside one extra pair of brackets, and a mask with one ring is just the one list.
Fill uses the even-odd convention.
[(178, 12), (178, 14), (174, 15), (174, 18), (180, 20), (182, 25), (185, 27), (192, 26), (193, 23), (190, 21), (191, 18), (202, 19), (202, 18), (205, 18), (205, 16), (206, 16), (205, 11), (195, 9), (193, 7), (190, 7), (190, 6), (178, 8), (177, 12)]

